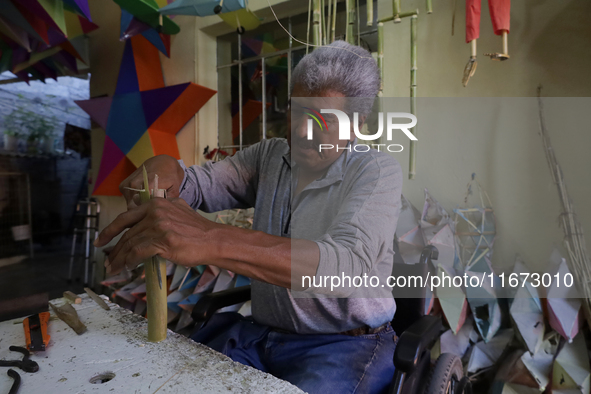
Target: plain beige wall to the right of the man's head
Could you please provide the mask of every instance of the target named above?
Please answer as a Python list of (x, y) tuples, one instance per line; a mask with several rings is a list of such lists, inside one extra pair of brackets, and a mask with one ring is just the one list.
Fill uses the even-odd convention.
[[(534, 270), (543, 270), (554, 245), (561, 245), (560, 205), (538, 136), (537, 102), (530, 99), (457, 101), (448, 97), (535, 97), (591, 95), (591, 3), (585, 0), (513, 1), (509, 53), (505, 62), (482, 54), (497, 52), (501, 41), (492, 32), (487, 2), (482, 4), (478, 68), (468, 87), (461, 84), (470, 55), (465, 43), (465, 13), (458, 1), (451, 36), (451, 1), (434, 2), (426, 15), (424, 1), (402, 1), (403, 10), (419, 8), (418, 95), (440, 97), (424, 102), (418, 113), (417, 177), (403, 192), (421, 209), (423, 189), (447, 209), (464, 198), (473, 172), (487, 189), (496, 210), (497, 242), (493, 262), (511, 267), (520, 254)], [(380, 1), (380, 17), (391, 2)], [(408, 96), (409, 21), (385, 25), (385, 96)], [(421, 103), (421, 101), (419, 101)], [(546, 121), (579, 219), (591, 242), (591, 146), (589, 98), (548, 99)], [(431, 106), (431, 108), (429, 108)], [(455, 115), (441, 113), (447, 106)], [(423, 107), (423, 106), (421, 106)], [(462, 111), (460, 108), (465, 108)], [(458, 114), (460, 116), (458, 116)], [(464, 116), (461, 116), (461, 115)], [(408, 155), (396, 156), (408, 172)], [(590, 244), (591, 245), (591, 244)]]

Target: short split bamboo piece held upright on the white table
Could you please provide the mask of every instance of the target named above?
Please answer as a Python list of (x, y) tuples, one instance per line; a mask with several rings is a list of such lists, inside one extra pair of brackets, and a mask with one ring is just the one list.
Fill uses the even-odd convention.
[[(146, 167), (143, 168), (143, 171), (144, 190), (140, 192), (142, 204), (154, 197), (164, 197), (164, 189), (158, 189), (158, 175), (154, 179), (154, 191), (150, 193)], [(152, 256), (144, 260), (144, 269), (146, 271), (146, 296), (148, 304), (148, 341), (161, 342), (166, 339), (168, 311), (166, 286), (159, 281), (157, 270), (160, 271), (160, 278), (166, 279), (166, 261), (160, 256)]]

